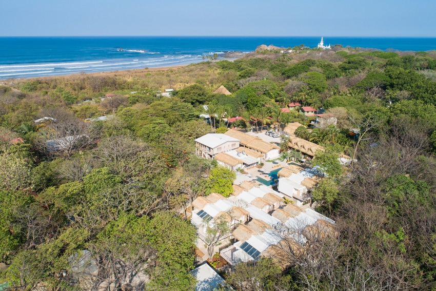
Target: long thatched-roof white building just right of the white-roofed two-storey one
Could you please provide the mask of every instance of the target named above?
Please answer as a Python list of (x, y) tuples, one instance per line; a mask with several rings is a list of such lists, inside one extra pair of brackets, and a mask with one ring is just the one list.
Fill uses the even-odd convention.
[(267, 143), (260, 138), (253, 137), (244, 132), (234, 129), (228, 130), (225, 135), (240, 141), (240, 144), (252, 151), (262, 154), (260, 162), (271, 160), (280, 156), (280, 147), (274, 144)]

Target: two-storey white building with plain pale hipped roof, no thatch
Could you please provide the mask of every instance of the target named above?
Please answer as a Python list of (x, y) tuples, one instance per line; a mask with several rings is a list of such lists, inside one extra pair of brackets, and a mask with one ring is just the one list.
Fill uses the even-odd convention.
[(223, 133), (208, 133), (195, 140), (195, 154), (206, 159), (239, 148), (240, 140)]

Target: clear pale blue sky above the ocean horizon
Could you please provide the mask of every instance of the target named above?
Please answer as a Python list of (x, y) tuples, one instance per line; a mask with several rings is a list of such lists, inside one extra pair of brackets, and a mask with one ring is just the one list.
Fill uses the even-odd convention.
[(435, 0), (0, 0), (0, 36), (436, 37)]

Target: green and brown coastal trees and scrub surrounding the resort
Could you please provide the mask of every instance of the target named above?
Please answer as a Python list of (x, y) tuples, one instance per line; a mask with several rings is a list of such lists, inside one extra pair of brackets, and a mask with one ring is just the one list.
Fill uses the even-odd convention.
[[(194, 140), (299, 122), (295, 135), (326, 149), (312, 161), (328, 176), (313, 199), (339, 235), (316, 241), (310, 254), (281, 256), (285, 269), (266, 258), (241, 263), (227, 282), (237, 290), (436, 289), (435, 70), (435, 51), (302, 46), (0, 86), (0, 283), (193, 290), (192, 201), (229, 196), (235, 178), (196, 157)], [(213, 93), (221, 85), (231, 94)], [(282, 110), (291, 102), (338, 122), (308, 130), (310, 117)], [(283, 155), (291, 156), (298, 153)], [(133, 278), (143, 283), (132, 287)]]

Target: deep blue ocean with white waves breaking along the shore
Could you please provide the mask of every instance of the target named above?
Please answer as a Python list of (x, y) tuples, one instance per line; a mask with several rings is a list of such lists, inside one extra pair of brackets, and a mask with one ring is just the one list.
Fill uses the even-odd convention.
[[(0, 37), (0, 80), (198, 63), (216, 53), (250, 52), (262, 44), (316, 47), (321, 37), (101, 36)], [(328, 37), (324, 44), (427, 51), (436, 38)]]

